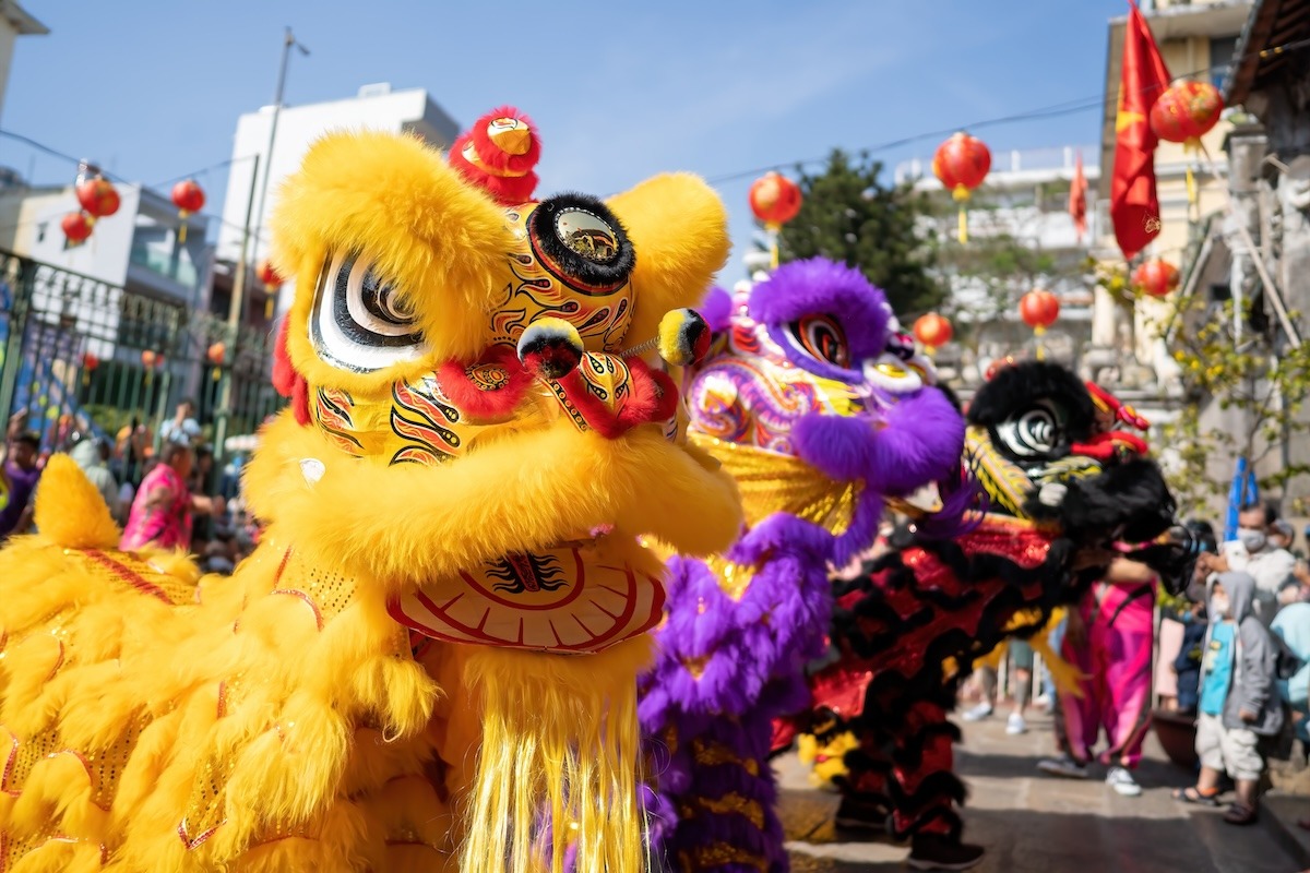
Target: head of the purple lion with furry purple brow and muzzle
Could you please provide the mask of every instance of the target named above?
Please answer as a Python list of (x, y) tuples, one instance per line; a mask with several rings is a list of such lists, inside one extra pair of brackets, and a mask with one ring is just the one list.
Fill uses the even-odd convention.
[[(883, 497), (959, 480), (964, 420), (858, 270), (793, 262), (753, 288), (714, 289), (701, 312), (715, 338), (688, 376), (693, 433), (859, 483), (870, 524)], [(965, 501), (947, 503), (958, 520)]]

